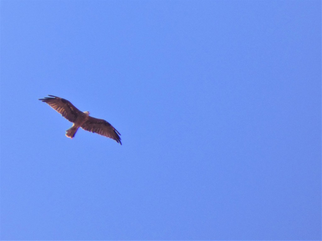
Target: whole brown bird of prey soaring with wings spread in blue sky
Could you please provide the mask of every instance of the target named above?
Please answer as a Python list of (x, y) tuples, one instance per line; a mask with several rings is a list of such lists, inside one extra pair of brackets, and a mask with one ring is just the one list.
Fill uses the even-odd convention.
[(109, 122), (97, 119), (90, 116), (90, 112), (81, 112), (72, 103), (63, 98), (48, 95), (51, 97), (45, 97), (44, 99), (39, 99), (42, 102), (49, 104), (54, 110), (59, 112), (68, 121), (73, 122), (73, 126), (66, 130), (66, 136), (73, 138), (75, 136), (78, 128), (82, 128), (93, 133), (97, 133), (108, 138), (116, 140), (117, 143), (121, 144), (121, 135)]

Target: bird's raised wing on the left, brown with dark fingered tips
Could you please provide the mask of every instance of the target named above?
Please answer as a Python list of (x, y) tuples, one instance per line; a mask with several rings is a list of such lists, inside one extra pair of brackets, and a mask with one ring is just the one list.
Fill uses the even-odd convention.
[(71, 122), (75, 122), (77, 116), (81, 112), (79, 109), (77, 109), (72, 103), (70, 103), (68, 100), (65, 100), (63, 98), (54, 96), (54, 95), (48, 95), (51, 97), (45, 97), (44, 99), (39, 99), (42, 102), (45, 102), (49, 104), (54, 110), (61, 113), (63, 117), (65, 117), (67, 120)]

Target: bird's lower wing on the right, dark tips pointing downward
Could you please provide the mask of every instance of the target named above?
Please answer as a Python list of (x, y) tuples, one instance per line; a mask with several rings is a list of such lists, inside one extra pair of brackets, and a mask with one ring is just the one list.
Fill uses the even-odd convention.
[(117, 143), (122, 145), (121, 138), (119, 137), (119, 135), (121, 134), (109, 122), (105, 120), (89, 116), (87, 121), (85, 121), (85, 123), (81, 125), (81, 128), (102, 136), (112, 138), (116, 140)]

